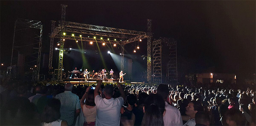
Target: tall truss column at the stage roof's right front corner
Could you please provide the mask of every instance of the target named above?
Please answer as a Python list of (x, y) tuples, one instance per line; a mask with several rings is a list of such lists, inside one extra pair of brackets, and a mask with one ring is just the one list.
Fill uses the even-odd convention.
[[(148, 33), (151, 33), (151, 19), (148, 19)], [(151, 35), (147, 40), (147, 81), (151, 82)]]

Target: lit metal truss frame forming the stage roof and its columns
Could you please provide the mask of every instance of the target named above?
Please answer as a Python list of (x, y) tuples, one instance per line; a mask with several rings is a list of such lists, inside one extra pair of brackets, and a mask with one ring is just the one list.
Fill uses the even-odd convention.
[[(88, 25), (88, 24), (82, 24), (82, 23), (75, 23), (75, 22), (68, 22), (65, 21), (65, 14), (66, 14), (66, 7), (67, 5), (62, 6), (62, 14), (61, 14), (61, 21), (59, 21), (59, 24), (55, 26), (52, 24), (52, 32), (50, 34), (51, 37), (51, 46), (50, 47), (50, 57), (49, 57), (49, 67), (50, 67), (50, 60), (52, 62), (52, 55), (51, 52), (53, 50), (53, 39), (59, 38), (60, 39), (60, 53), (59, 53), (59, 65), (58, 65), (58, 80), (62, 81), (62, 69), (63, 69), (63, 47), (64, 42), (63, 39), (68, 40), (79, 40), (79, 41), (92, 41), (92, 42), (101, 42), (101, 43), (116, 43), (121, 45), (121, 70), (124, 70), (124, 45), (139, 41), (140, 39), (146, 39), (148, 38), (148, 44), (150, 46), (150, 50), (148, 50), (148, 59), (150, 62), (148, 63), (148, 79), (149, 82), (151, 82), (151, 20), (148, 19), (148, 32), (141, 32), (141, 31), (134, 31), (134, 30), (126, 30), (126, 29), (119, 29), (119, 28), (112, 28), (112, 27), (105, 27), (105, 26), (95, 26), (95, 25)], [(150, 22), (150, 25), (149, 25)], [(53, 21), (52, 21), (53, 23)], [(69, 34), (64, 35), (63, 33), (79, 33), (81, 36), (71, 36)], [(107, 39), (97, 39), (97, 38), (89, 38), (89, 37), (83, 37), (88, 35), (97, 35), (97, 36), (107, 36), (107, 37), (113, 37), (113, 38), (119, 38), (118, 40), (107, 40)], [(121, 40), (120, 40), (121, 39)]]

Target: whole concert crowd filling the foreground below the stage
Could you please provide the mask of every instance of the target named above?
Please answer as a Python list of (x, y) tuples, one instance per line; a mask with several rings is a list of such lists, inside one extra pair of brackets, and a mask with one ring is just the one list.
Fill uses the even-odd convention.
[(0, 125), (256, 125), (250, 88), (33, 84), (2, 78)]

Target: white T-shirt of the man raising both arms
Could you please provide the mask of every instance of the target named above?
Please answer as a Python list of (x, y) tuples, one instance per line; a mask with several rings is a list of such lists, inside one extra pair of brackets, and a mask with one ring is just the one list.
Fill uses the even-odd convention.
[(94, 99), (97, 107), (97, 116), (95, 126), (119, 126), (120, 125), (120, 110), (124, 104), (124, 99), (111, 98), (103, 99), (97, 95)]

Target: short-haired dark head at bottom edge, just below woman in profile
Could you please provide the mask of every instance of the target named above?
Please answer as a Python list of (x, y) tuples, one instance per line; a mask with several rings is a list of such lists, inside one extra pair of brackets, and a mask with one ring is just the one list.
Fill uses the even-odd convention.
[(195, 121), (196, 121), (196, 124), (203, 124), (206, 126), (210, 125), (210, 117), (203, 111), (196, 113)]

